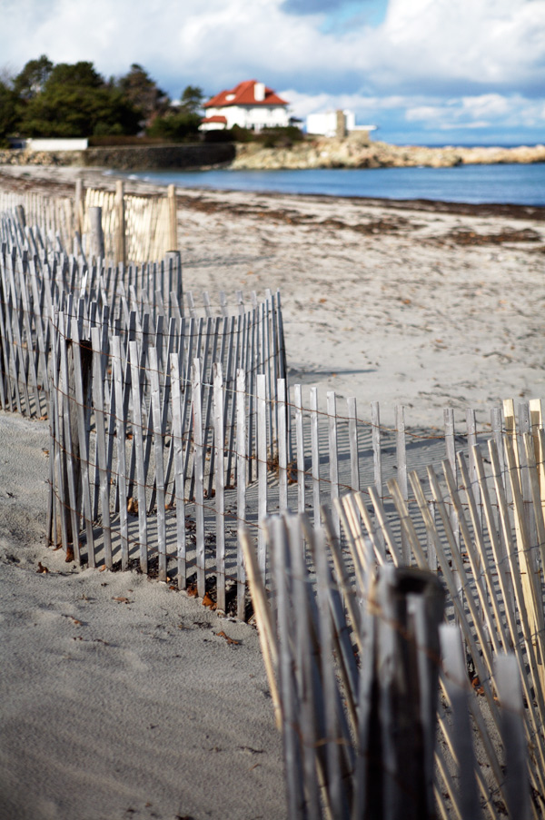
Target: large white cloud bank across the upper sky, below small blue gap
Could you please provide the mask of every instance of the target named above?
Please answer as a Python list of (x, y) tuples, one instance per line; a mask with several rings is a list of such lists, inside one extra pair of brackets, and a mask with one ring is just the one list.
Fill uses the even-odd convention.
[(540, 81), (545, 56), (545, 0), (390, 0), (381, 25), (329, 34), (320, 15), (288, 15), (282, 0), (0, 0), (0, 14), (12, 33), (6, 62), (45, 52), (55, 62), (91, 59), (105, 74), (140, 62), (220, 81), (243, 70), (292, 74), (293, 85), (299, 73), (307, 84), (336, 76), (339, 91), (514, 88)]

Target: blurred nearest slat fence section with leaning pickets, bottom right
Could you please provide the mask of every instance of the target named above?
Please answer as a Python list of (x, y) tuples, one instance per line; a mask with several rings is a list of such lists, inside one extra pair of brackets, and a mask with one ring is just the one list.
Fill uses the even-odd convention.
[(447, 458), (409, 501), (398, 477), (268, 519), (268, 572), (242, 528), (291, 820), (543, 815), (545, 434), (506, 430), (460, 486)]

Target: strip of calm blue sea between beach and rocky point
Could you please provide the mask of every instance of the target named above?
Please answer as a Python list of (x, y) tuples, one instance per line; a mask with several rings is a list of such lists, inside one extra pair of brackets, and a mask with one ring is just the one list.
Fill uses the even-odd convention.
[(226, 169), (127, 173), (125, 176), (164, 185), (174, 183), (182, 188), (545, 206), (545, 163), (308, 171)]

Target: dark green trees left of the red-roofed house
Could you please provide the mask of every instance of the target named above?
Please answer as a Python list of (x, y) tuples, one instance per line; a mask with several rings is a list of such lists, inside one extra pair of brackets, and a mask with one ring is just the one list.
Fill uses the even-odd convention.
[(0, 145), (21, 137), (196, 138), (203, 91), (186, 85), (173, 104), (139, 64), (104, 79), (93, 63), (54, 64), (43, 54), (0, 79)]

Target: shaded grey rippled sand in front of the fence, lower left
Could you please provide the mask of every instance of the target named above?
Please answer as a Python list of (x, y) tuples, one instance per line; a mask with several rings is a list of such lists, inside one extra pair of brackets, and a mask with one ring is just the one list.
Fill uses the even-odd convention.
[(256, 630), (45, 549), (47, 445), (0, 412), (0, 817), (285, 816)]

